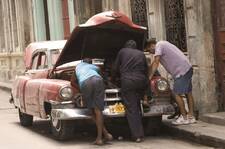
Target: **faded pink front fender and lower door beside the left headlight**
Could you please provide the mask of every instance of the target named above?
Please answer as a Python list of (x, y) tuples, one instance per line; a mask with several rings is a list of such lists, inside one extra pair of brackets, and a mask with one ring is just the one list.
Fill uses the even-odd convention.
[[(59, 96), (59, 91), (64, 86), (71, 87), (70, 81), (59, 79), (34, 79), (29, 81), (25, 94), (26, 106), (29, 106), (27, 112), (41, 118), (47, 118), (45, 103), (63, 101)], [(74, 89), (74, 94), (76, 92), (78, 90)]]

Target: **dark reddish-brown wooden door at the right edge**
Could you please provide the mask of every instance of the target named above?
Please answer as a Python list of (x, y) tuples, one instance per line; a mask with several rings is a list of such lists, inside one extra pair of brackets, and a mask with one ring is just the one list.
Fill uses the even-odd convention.
[(214, 31), (216, 75), (220, 92), (220, 110), (225, 110), (225, 1), (215, 0), (214, 4)]

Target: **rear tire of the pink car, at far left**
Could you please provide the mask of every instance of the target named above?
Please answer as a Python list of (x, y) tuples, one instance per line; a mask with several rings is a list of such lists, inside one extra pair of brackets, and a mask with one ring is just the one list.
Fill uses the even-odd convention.
[(28, 126), (32, 126), (33, 124), (33, 116), (21, 112), (20, 109), (19, 109), (19, 119), (20, 119), (20, 124), (22, 126), (28, 127)]

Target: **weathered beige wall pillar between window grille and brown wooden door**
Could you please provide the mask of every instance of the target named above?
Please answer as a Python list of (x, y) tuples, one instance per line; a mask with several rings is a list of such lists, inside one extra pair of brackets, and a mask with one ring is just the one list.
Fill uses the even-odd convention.
[(188, 55), (194, 65), (193, 95), (200, 114), (218, 109), (210, 0), (185, 0)]

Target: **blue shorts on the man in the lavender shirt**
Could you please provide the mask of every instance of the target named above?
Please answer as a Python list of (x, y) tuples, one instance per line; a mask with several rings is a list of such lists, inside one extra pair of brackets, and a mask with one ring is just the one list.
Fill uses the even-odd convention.
[(187, 94), (192, 91), (192, 75), (193, 68), (191, 68), (185, 75), (174, 80), (173, 91), (175, 94)]

